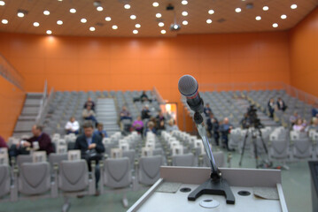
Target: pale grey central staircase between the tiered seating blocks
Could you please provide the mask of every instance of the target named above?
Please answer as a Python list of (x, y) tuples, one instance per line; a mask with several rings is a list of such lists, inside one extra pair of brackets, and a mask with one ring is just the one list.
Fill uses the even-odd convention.
[(117, 124), (117, 110), (112, 98), (97, 99), (97, 121), (104, 125), (108, 136), (120, 132), (120, 126)]

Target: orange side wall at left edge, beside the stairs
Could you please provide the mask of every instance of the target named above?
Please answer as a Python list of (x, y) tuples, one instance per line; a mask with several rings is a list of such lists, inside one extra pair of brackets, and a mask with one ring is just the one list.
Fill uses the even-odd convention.
[(25, 94), (0, 76), (0, 135), (7, 140), (22, 109)]

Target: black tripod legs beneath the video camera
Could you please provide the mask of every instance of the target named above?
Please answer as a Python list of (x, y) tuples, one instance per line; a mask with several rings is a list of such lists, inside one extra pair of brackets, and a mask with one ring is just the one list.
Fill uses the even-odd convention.
[(255, 157), (255, 163), (256, 163), (256, 169), (259, 169), (260, 167), (263, 167), (264, 164), (259, 164), (259, 155), (258, 155), (258, 151), (257, 151), (257, 136), (259, 135), (260, 136), (260, 140), (261, 140), (261, 143), (263, 145), (263, 148), (266, 152), (266, 155), (268, 155), (268, 148), (266, 147), (265, 145), (265, 142), (263, 140), (263, 136), (262, 136), (262, 133), (260, 131), (260, 127), (249, 127), (245, 133), (245, 137), (244, 137), (244, 143), (243, 143), (243, 148), (242, 148), (242, 153), (241, 153), (241, 159), (238, 163), (239, 166), (242, 165), (242, 160), (243, 160), (243, 156), (244, 156), (244, 150), (245, 150), (245, 145), (246, 145), (246, 140), (249, 136), (249, 132), (250, 132), (250, 129), (251, 129), (251, 135), (252, 135), (252, 145), (253, 145), (253, 148), (254, 148), (254, 157)]

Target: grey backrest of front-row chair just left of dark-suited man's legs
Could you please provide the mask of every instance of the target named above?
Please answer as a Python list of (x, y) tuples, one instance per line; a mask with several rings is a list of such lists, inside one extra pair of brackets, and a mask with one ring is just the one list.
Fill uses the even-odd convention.
[(89, 186), (89, 169), (85, 160), (61, 161), (58, 188), (64, 192), (80, 192)]

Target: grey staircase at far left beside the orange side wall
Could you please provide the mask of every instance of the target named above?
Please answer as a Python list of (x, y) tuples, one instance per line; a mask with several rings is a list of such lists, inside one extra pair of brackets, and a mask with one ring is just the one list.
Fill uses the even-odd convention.
[(35, 125), (35, 119), (40, 110), (42, 98), (42, 93), (27, 93), (23, 109), (13, 131), (13, 136), (31, 134), (31, 128)]

